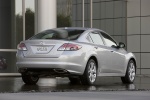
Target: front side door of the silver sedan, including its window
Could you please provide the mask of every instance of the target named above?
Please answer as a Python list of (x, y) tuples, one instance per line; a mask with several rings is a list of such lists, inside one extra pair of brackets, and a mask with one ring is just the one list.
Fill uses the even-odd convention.
[(123, 48), (118, 48), (117, 43), (106, 33), (101, 32), (102, 38), (104, 39), (105, 45), (107, 47), (107, 65), (105, 69), (109, 73), (123, 73), (125, 67), (125, 50)]

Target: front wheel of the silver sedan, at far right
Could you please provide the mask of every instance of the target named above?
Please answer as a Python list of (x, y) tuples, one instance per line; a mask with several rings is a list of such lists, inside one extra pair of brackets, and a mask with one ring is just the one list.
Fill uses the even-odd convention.
[(121, 77), (121, 80), (125, 84), (132, 84), (135, 80), (136, 66), (133, 60), (130, 60), (127, 66), (125, 77)]

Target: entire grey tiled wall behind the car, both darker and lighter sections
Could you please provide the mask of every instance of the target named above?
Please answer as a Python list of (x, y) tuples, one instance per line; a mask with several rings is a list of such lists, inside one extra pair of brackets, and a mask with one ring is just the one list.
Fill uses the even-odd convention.
[[(93, 0), (93, 27), (108, 32), (137, 58), (137, 74), (150, 74), (150, 0)], [(90, 27), (90, 0), (85, 0)], [(82, 2), (74, 0), (73, 26), (82, 26)]]

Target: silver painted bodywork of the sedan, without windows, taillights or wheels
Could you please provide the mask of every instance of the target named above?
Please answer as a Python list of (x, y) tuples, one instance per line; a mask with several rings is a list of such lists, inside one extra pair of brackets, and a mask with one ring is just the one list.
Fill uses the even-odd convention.
[[(41, 39), (22, 41), (21, 43), (25, 43), (28, 50), (17, 51), (17, 68), (61, 68), (71, 74), (83, 75), (88, 60), (93, 56), (98, 61), (98, 76), (125, 76), (129, 60), (131, 58), (136, 60), (134, 54), (128, 53), (123, 48), (118, 49), (90, 43), (86, 39), (89, 32), (102, 30), (80, 29), (84, 29), (85, 32), (75, 41)], [(78, 44), (82, 48), (78, 51), (57, 51), (64, 43)], [(49, 52), (38, 54), (32, 48), (33, 46), (51, 46), (52, 48), (49, 49)]]

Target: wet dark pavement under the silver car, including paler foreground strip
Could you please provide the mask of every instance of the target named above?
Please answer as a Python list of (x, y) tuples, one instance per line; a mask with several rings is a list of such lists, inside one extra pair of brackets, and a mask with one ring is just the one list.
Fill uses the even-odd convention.
[(0, 100), (150, 100), (150, 76), (122, 84), (118, 77), (100, 77), (94, 86), (70, 84), (68, 78), (41, 78), (25, 85), (21, 77), (0, 77)]

